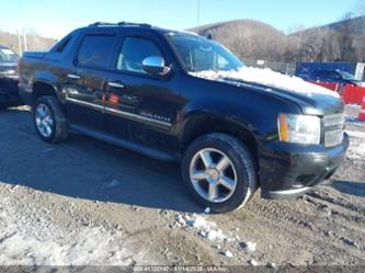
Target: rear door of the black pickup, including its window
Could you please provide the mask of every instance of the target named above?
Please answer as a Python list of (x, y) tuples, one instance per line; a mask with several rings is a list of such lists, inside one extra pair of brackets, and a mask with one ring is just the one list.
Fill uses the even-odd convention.
[(66, 72), (64, 95), (68, 116), (73, 124), (104, 129), (103, 84), (116, 43), (113, 32), (87, 33)]

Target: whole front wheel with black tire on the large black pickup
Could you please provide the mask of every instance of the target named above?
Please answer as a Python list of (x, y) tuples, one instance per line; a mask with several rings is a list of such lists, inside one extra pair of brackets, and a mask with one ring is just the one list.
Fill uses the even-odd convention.
[(181, 171), (195, 201), (214, 213), (241, 208), (258, 187), (252, 155), (238, 139), (226, 134), (214, 133), (194, 140), (184, 152)]

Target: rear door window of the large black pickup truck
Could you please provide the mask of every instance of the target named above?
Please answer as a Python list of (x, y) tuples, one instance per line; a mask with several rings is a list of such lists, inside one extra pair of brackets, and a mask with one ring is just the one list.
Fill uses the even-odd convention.
[(88, 35), (80, 46), (77, 64), (90, 68), (106, 68), (115, 42), (113, 35)]

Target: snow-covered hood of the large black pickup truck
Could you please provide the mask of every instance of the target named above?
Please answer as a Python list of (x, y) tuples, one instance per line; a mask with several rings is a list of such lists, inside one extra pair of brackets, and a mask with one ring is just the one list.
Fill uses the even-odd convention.
[(242, 67), (239, 70), (208, 70), (191, 75), (281, 96), (299, 105), (304, 114), (322, 116), (343, 111), (337, 92), (271, 69)]

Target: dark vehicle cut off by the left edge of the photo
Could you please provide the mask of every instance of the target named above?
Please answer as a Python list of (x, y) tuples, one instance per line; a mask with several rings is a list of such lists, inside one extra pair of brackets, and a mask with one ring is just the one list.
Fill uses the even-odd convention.
[(21, 104), (16, 66), (18, 55), (0, 45), (0, 109)]

